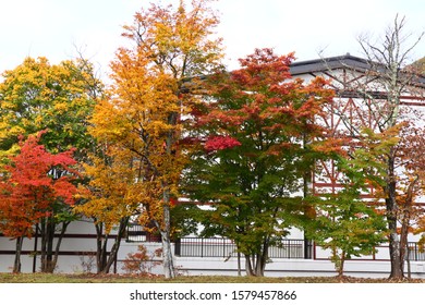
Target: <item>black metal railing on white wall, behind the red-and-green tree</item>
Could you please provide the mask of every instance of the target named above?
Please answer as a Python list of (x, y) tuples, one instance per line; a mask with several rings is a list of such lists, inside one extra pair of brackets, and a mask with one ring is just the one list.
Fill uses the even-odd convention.
[[(282, 240), (279, 246), (270, 246), (270, 258), (312, 258), (312, 243), (304, 240)], [(175, 241), (175, 255), (182, 257), (235, 257), (236, 245), (228, 239), (183, 237)]]

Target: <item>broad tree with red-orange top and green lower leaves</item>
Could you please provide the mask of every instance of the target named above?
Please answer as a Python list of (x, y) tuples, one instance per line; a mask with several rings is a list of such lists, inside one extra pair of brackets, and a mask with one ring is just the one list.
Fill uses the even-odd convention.
[(210, 77), (212, 98), (192, 114), (198, 149), (185, 192), (210, 205), (205, 234), (233, 240), (248, 274), (264, 276), (268, 248), (304, 209), (303, 179), (326, 147), (316, 120), (326, 115), (332, 90), (321, 77), (292, 80), (292, 60), (255, 50), (240, 70)]

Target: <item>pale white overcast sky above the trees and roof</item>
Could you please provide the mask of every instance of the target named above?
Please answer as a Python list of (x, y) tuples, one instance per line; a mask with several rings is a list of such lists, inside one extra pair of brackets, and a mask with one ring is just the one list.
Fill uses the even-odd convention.
[[(52, 63), (83, 51), (107, 73), (114, 51), (124, 44), (122, 26), (131, 24), (142, 7), (155, 0), (13, 0), (0, 1), (0, 72), (14, 69), (25, 57), (44, 56)], [(179, 0), (162, 0), (174, 3)], [(189, 2), (189, 1), (187, 1)], [(218, 35), (224, 39), (228, 64), (272, 47), (295, 52), (298, 60), (350, 52), (362, 56), (362, 33), (379, 36), (396, 14), (405, 16), (406, 33), (425, 30), (424, 0), (218, 0)], [(425, 56), (425, 39), (415, 59)]]

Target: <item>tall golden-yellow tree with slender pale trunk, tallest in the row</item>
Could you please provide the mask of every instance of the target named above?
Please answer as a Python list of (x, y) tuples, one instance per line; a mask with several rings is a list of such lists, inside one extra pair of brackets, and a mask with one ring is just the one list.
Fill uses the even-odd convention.
[(76, 210), (108, 229), (129, 216), (156, 223), (165, 266), (170, 265), (170, 209), (186, 162), (181, 118), (199, 98), (186, 84), (221, 64), (221, 40), (209, 37), (218, 24), (209, 2), (193, 0), (191, 10), (183, 0), (175, 10), (151, 4), (136, 13), (123, 34), (133, 47), (117, 51), (113, 84), (90, 120), (102, 157), (93, 156), (85, 167), (92, 180), (81, 192), (87, 202)]

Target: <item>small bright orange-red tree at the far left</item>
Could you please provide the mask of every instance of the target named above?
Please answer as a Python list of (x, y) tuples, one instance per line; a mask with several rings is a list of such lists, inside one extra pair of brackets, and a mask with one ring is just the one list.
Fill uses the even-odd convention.
[[(38, 142), (42, 133), (20, 142), (20, 154), (11, 157), (0, 184), (0, 230), (4, 235), (16, 239), (16, 252), (13, 272), (21, 271), (21, 249), (24, 237), (32, 237), (35, 225), (45, 218), (54, 218), (54, 205), (74, 204), (76, 192), (71, 169), (76, 161), (73, 151), (57, 155), (48, 152)], [(53, 178), (56, 170), (68, 174)], [(44, 241), (42, 241), (44, 242)], [(41, 266), (54, 269), (60, 242), (54, 258), (48, 259), (45, 248), (41, 252)]]

